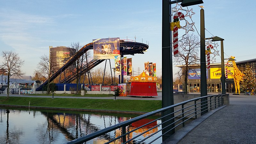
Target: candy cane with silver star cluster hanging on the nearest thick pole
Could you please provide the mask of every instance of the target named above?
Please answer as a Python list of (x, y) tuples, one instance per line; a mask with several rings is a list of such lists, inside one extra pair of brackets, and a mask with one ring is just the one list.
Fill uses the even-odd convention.
[[(184, 15), (182, 12), (179, 11), (184, 11), (186, 12), (186, 14)], [(195, 12), (193, 12), (193, 9), (185, 10), (182, 9), (182, 6), (178, 3), (176, 3), (176, 6), (172, 8), (172, 12), (175, 12), (175, 14), (173, 15), (173, 22), (170, 23), (170, 30), (173, 31), (172, 35), (173, 35), (173, 55), (174, 57), (178, 57), (178, 53), (179, 53), (179, 49), (178, 49), (178, 29), (185, 29), (186, 32), (185, 34), (182, 36), (182, 39), (180, 41), (183, 40), (184, 36), (188, 34), (189, 31), (195, 31), (192, 27), (194, 26), (194, 22), (189, 23), (188, 20), (185, 19), (185, 17), (189, 17), (191, 19), (191, 16), (193, 14), (195, 14)], [(190, 14), (191, 13), (191, 14)], [(185, 26), (180, 26), (180, 21), (179, 20), (185, 20)]]

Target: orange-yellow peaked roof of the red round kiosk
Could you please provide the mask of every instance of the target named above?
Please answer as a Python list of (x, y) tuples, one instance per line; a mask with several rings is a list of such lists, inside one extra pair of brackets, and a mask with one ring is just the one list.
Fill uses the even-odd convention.
[(131, 80), (129, 82), (151, 82), (156, 83), (156, 76), (148, 76), (143, 70), (143, 72), (139, 76), (131, 76)]

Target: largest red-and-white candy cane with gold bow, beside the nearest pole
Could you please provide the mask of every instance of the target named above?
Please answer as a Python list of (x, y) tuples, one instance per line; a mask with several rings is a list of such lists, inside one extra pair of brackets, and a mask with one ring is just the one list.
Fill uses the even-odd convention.
[(178, 29), (180, 28), (180, 20), (185, 20), (185, 16), (182, 12), (176, 12), (173, 16), (173, 22), (171, 22), (171, 30), (173, 30), (173, 55), (178, 56)]

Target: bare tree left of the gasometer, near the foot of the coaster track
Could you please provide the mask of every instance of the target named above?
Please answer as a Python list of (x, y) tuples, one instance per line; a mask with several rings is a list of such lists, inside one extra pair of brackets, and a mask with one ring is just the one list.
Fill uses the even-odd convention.
[[(44, 77), (45, 80), (49, 79), (52, 75), (52, 71), (55, 70), (57, 64), (54, 59), (50, 59), (49, 56), (43, 55), (40, 57), (40, 62), (37, 64), (36, 73), (39, 77)], [(47, 83), (47, 94), (50, 93), (50, 80)]]

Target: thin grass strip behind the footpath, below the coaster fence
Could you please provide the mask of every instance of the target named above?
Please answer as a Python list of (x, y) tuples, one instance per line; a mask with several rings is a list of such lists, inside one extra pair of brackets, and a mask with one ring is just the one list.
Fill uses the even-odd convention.
[[(52, 93), (50, 94), (28, 94), (28, 95), (35, 95), (35, 96), (52, 96)], [(67, 93), (54, 93), (54, 96), (69, 96), (69, 97), (114, 97), (113, 94), (84, 94), (82, 96), (81, 94), (67, 94)]]

